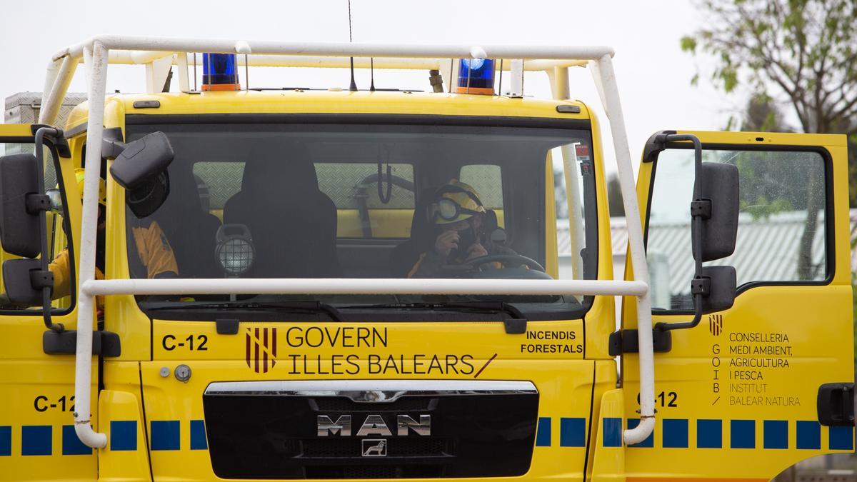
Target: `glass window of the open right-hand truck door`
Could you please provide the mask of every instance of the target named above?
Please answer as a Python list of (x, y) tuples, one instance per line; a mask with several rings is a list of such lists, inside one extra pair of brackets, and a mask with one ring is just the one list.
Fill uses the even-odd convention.
[[(731, 265), (738, 286), (811, 283), (829, 273), (825, 161), (815, 151), (704, 150), (704, 162), (738, 166), (740, 214)], [(692, 310), (690, 202), (693, 150), (668, 149), (656, 160), (646, 256), (652, 307)]]

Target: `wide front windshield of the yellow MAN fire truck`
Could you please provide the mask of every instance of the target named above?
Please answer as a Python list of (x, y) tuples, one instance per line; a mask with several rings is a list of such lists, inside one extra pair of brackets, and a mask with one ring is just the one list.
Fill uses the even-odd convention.
[[(158, 130), (175, 151), (169, 195), (151, 216), (126, 214), (132, 278), (596, 277), (588, 130), (156, 124), (129, 126), (129, 141)], [(138, 298), (144, 309), (473, 299), (566, 315), (586, 304), (466, 295)]]

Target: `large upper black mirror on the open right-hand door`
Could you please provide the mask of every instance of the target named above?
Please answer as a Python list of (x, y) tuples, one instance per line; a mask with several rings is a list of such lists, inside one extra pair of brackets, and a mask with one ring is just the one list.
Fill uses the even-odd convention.
[[(704, 162), (699, 174), (700, 198), (710, 202), (710, 216), (702, 220), (702, 261), (706, 262), (734, 253), (740, 188), (738, 167), (732, 164)], [(692, 223), (692, 237), (696, 236), (696, 223)], [(697, 256), (694, 249), (694, 259)]]

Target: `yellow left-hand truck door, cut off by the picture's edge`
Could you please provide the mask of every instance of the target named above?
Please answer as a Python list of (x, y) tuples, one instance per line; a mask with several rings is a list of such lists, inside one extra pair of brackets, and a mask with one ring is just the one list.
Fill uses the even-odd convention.
[[(28, 124), (0, 124), (0, 156), (33, 154), (34, 138)], [(57, 148), (45, 143), (45, 189), (62, 189)], [(65, 168), (69, 169), (69, 166)], [(74, 178), (74, 175), (71, 175)], [(75, 191), (76, 192), (76, 191)], [(9, 202), (3, 193), (0, 202)], [(62, 205), (69, 203), (62, 196)], [(75, 206), (79, 213), (80, 202)], [(63, 250), (63, 224), (68, 230), (68, 214), (59, 208), (49, 213), (47, 235), (54, 259)], [(70, 232), (70, 231), (69, 231)], [(51, 249), (53, 247), (53, 249)], [(0, 252), (3, 262), (12, 256)], [(71, 292), (74, 286), (74, 250), (69, 243)], [(3, 295), (6, 286), (2, 287)], [(54, 302), (53, 322), (66, 328), (76, 325), (75, 300)], [(63, 480), (95, 479), (97, 459), (75, 435), (75, 357), (73, 354), (48, 355), (42, 346), (46, 328), (40, 308), (0, 305), (0, 479)], [(98, 364), (93, 364), (96, 371)], [(93, 381), (98, 374), (93, 374)], [(93, 404), (93, 411), (97, 404)], [(93, 420), (97, 419), (93, 413)]]

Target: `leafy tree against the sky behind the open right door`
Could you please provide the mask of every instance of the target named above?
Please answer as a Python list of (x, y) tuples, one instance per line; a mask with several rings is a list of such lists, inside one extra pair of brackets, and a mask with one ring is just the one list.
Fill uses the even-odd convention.
[[(740, 89), (751, 94), (750, 107), (767, 106), (741, 129), (848, 135), (850, 202), (857, 207), (857, 2), (701, 0), (698, 5), (706, 27), (682, 37), (682, 51), (709, 59), (710, 79), (723, 92)], [(783, 121), (781, 106), (794, 115), (794, 127)]]

